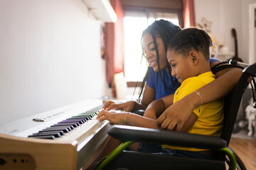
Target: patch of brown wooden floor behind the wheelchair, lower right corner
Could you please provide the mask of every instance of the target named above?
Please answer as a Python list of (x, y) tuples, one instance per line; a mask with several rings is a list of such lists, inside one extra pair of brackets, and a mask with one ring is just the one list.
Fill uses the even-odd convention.
[(229, 147), (242, 159), (247, 170), (256, 170), (256, 147), (254, 140), (232, 137)]

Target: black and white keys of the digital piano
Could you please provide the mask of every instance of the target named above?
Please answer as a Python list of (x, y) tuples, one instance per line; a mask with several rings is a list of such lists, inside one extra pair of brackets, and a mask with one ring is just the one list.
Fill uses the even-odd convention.
[[(86, 126), (85, 124), (92, 124), (89, 122), (93, 122), (96, 126), (101, 125), (101, 123), (98, 123), (97, 120), (95, 120), (97, 113), (99, 113), (101, 110), (102, 106), (97, 106), (96, 108), (86, 111), (85, 113), (78, 113), (77, 115), (73, 115), (70, 118), (50, 125), (48, 128), (44, 128), (36, 133), (33, 133), (32, 135), (28, 135), (28, 137), (55, 140), (58, 137), (68, 135), (68, 133), (71, 134), (73, 130), (78, 130)], [(90, 129), (90, 131), (92, 131), (92, 129)], [(68, 138), (70, 140), (70, 137)]]

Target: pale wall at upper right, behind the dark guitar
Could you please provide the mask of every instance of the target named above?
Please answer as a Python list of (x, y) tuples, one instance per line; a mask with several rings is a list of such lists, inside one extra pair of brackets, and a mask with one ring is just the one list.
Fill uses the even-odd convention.
[(196, 23), (205, 17), (212, 22), (211, 33), (215, 38), (235, 52), (231, 29), (235, 28), (238, 37), (238, 57), (249, 62), (249, 5), (256, 0), (194, 0)]

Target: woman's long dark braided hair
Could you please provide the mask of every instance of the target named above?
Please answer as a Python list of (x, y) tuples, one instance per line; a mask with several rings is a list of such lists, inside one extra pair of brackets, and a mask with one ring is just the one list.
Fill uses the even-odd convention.
[[(166, 89), (170, 89), (170, 88), (168, 86), (166, 86), (166, 84), (164, 83), (163, 78), (161, 77), (161, 72), (160, 72), (160, 67), (159, 67), (159, 50), (158, 50), (158, 47), (157, 47), (157, 44), (156, 44), (156, 37), (159, 37), (163, 40), (164, 49), (165, 49), (165, 52), (167, 52), (167, 47), (168, 47), (169, 41), (180, 30), (181, 30), (181, 28), (179, 26), (176, 26), (176, 25), (174, 25), (173, 23), (171, 23), (169, 21), (165, 21), (165, 20), (161, 19), (159, 21), (154, 21), (154, 23), (152, 23), (148, 28), (146, 28), (142, 32), (142, 39), (143, 39), (143, 36), (146, 33), (149, 33), (153, 38), (154, 47), (156, 49), (156, 60), (157, 60), (157, 64), (158, 64), (159, 75), (160, 75), (161, 81), (163, 82)], [(169, 74), (171, 74), (171, 67), (170, 67), (169, 64), (167, 64), (166, 68), (169, 70)], [(146, 71), (146, 74), (145, 74), (144, 79), (142, 81), (142, 85), (140, 86), (140, 89), (139, 89), (139, 97), (137, 98), (138, 102), (141, 100), (142, 92), (143, 92), (143, 89), (144, 89), (144, 85), (145, 85), (146, 77), (147, 77), (148, 73), (149, 73), (149, 67)], [(172, 77), (171, 77), (171, 82), (173, 84), (175, 84), (176, 86), (178, 86), (178, 84), (176, 84), (176, 82), (174, 81), (174, 79), (172, 79)], [(170, 90), (175, 91), (175, 89), (170, 89)]]

